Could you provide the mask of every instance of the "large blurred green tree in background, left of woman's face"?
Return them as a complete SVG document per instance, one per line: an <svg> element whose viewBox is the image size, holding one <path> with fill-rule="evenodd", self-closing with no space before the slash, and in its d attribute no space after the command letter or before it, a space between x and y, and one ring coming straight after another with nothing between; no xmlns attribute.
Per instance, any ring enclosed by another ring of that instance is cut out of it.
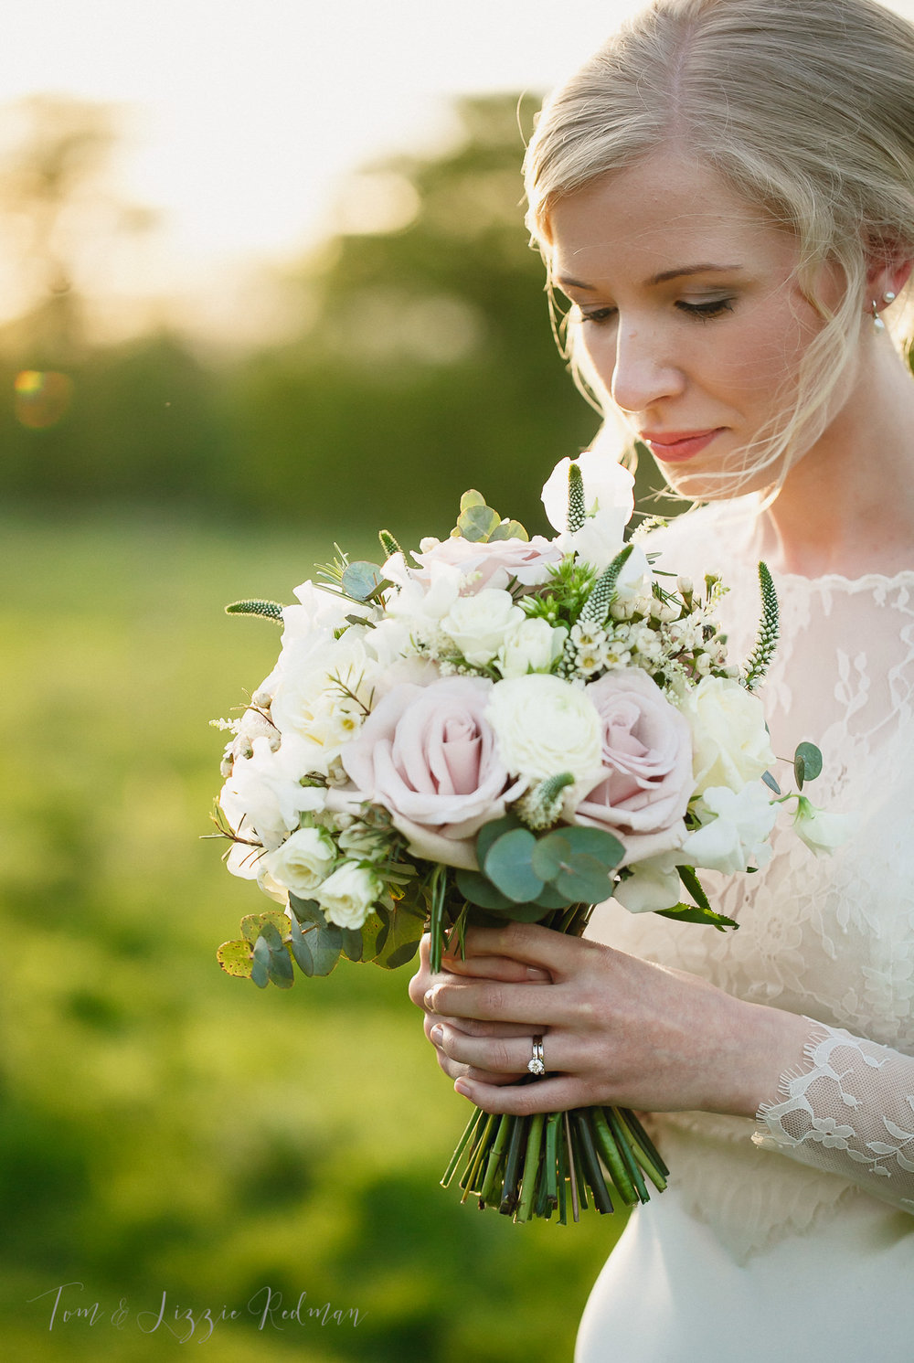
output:
<svg viewBox="0 0 914 1363"><path fill-rule="evenodd" d="M518 102L456 112L456 147L353 176L332 249L302 266L308 330L238 375L245 491L271 514L445 534L478 485L538 523L543 477L598 425L563 372L529 249Z"/></svg>

